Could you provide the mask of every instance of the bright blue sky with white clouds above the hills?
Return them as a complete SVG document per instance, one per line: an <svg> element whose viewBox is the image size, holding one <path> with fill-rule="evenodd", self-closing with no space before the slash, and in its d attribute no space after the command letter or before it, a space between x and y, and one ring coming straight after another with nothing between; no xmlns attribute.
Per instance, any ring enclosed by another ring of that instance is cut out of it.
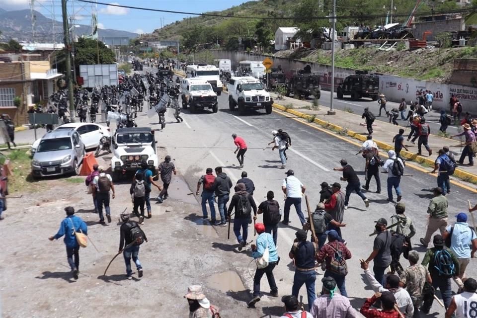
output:
<svg viewBox="0 0 477 318"><path fill-rule="evenodd" d="M162 10L176 10L203 13L223 10L239 5L246 0L100 0L105 3L117 3L137 7ZM30 0L0 0L0 8L19 10L29 8ZM55 17L61 21L61 0L35 0L34 9L48 18ZM68 0L68 13L75 16L76 24L90 24L94 4ZM134 33L151 33L161 24L182 20L188 15L126 9L121 7L97 5L98 27L100 29L117 29Z"/></svg>

